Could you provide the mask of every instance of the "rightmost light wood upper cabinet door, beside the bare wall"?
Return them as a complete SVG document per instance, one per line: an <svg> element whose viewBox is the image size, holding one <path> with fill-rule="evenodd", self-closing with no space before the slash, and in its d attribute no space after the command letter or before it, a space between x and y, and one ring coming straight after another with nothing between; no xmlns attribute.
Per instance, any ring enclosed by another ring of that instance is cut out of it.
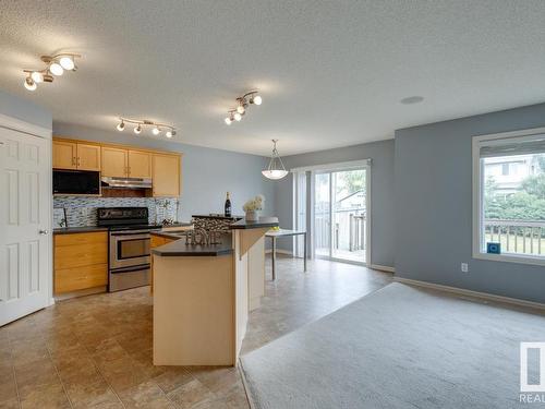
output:
<svg viewBox="0 0 545 409"><path fill-rule="evenodd" d="M153 155L154 196L178 197L180 195L180 156Z"/></svg>

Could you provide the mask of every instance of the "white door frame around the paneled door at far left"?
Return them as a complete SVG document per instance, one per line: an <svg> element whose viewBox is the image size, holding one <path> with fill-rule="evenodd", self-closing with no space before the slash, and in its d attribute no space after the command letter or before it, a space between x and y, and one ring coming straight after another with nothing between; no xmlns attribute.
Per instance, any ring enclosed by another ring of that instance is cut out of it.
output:
<svg viewBox="0 0 545 409"><path fill-rule="evenodd" d="M40 125L36 125L34 123L29 123L26 121L23 121L19 118L10 117L4 113L0 113L0 128L5 128L12 131L16 132L22 132L26 133L31 136L37 136L41 137L44 140L49 141L49 155L47 155L47 167L50 169L49 177L47 178L47 185L46 189L48 192L52 192L52 129L50 128L45 128ZM48 294L48 303L46 306L55 304L55 298L53 298L53 195L50 194L50 212L49 212L49 219L48 221L48 246L49 246L49 273L48 273L48 279L47 279L47 294Z"/></svg>

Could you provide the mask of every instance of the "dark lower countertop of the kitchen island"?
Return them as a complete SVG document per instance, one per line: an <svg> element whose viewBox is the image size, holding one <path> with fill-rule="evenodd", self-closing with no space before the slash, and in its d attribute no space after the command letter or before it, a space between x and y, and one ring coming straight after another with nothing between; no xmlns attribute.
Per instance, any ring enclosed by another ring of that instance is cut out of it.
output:
<svg viewBox="0 0 545 409"><path fill-rule="evenodd" d="M208 245L191 245L185 244L185 238L180 238L172 232L158 232L154 231L153 234L180 239L172 241L170 243L160 245L158 248L152 249L152 253L160 255L162 257L179 257L179 256L218 256L228 255L233 252L231 244L231 234L227 233L221 237L221 244L208 244Z"/></svg>

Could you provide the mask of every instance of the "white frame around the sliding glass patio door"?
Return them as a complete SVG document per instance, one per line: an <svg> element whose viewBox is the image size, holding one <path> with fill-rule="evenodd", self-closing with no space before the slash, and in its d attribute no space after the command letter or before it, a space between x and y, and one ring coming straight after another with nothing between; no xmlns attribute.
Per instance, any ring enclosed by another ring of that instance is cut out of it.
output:
<svg viewBox="0 0 545 409"><path fill-rule="evenodd" d="M335 171L343 171L343 170L355 170L355 169L365 169L365 208L366 208L366 224L365 224L365 262L354 262L350 260L344 260L344 258L338 258L338 257L318 257L318 258L326 258L326 260L331 260L336 262L341 262L341 263L347 263L347 264L356 264L356 265L364 265L370 267L372 265L372 260L371 260L371 231L372 231L372 205L371 205L371 196L372 196L372 163L373 160L371 158L368 159L362 159L362 160L350 160L350 161L342 161L342 163L335 163L335 164L325 164L325 165L315 165L315 166L308 166L308 167L300 167L300 168L293 168L291 169L292 172L299 172L299 171L310 171L311 172L311 192L310 192L310 197L307 197L307 203L310 203L310 208L308 208L308 214L310 214L310 220L311 220L311 226L312 226L312 233L311 233L311 249L310 249L310 255L311 258L315 258L315 227L314 227L314 195L315 195L315 176L317 173L327 173L327 172L335 172ZM331 190L331 181L329 181L329 189ZM329 212L332 210L332 206L329 206ZM295 220L293 220L295 221ZM307 226L308 227L308 226ZM332 222L330 225L330 228L332 229ZM331 243L330 243L331 245Z"/></svg>

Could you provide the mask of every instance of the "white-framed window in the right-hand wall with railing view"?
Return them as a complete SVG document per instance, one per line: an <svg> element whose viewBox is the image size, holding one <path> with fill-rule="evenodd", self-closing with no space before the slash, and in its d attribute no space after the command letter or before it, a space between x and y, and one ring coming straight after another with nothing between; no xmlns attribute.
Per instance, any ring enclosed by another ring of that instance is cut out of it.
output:
<svg viewBox="0 0 545 409"><path fill-rule="evenodd" d="M545 265L545 129L475 136L473 182L473 256Z"/></svg>

